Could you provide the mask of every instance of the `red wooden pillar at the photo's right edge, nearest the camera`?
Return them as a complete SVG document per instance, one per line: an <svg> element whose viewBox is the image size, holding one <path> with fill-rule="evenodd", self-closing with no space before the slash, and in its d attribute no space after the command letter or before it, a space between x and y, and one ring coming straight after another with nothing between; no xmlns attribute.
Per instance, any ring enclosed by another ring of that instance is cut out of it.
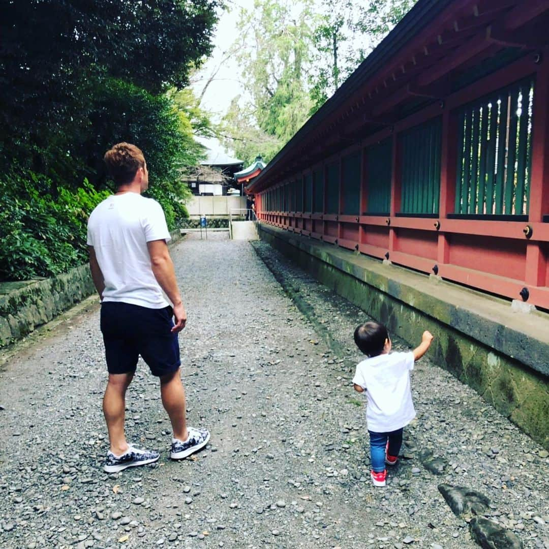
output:
<svg viewBox="0 0 549 549"><path fill-rule="evenodd" d="M528 220L541 222L549 214L549 48L545 48L534 88L532 164ZM535 234L534 234L535 237ZM539 242L526 244L525 282L546 284L547 257Z"/></svg>

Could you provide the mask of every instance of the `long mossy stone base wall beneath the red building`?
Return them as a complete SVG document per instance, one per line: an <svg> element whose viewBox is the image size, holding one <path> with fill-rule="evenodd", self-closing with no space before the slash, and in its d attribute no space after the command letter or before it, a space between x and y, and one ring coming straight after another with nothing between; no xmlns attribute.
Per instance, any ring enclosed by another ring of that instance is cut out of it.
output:
<svg viewBox="0 0 549 549"><path fill-rule="evenodd" d="M410 343L435 335L429 356L549 448L549 316L439 282L282 229L261 239Z"/></svg>

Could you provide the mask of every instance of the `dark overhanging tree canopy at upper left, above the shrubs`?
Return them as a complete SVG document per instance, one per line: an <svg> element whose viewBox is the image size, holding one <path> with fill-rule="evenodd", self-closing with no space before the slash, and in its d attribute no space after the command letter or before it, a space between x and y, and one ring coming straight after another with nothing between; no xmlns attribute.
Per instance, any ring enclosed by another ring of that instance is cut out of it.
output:
<svg viewBox="0 0 549 549"><path fill-rule="evenodd" d="M124 79L159 93L211 52L219 0L8 0L0 20L0 168L47 169L86 124L90 88ZM63 139L61 139L63 141Z"/></svg>

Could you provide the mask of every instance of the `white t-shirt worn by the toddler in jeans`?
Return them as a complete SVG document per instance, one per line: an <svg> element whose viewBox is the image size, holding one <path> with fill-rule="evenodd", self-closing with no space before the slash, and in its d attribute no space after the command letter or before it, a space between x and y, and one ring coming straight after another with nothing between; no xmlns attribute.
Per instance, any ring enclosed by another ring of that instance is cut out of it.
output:
<svg viewBox="0 0 549 549"><path fill-rule="evenodd" d="M410 391L413 352L391 352L358 363L352 382L366 390L368 430L390 433L416 417Z"/></svg>

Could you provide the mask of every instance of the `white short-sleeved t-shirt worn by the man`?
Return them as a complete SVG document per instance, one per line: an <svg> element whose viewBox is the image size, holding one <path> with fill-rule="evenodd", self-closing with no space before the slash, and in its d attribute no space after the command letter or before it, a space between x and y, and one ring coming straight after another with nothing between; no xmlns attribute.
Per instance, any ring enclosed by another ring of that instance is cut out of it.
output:
<svg viewBox="0 0 549 549"><path fill-rule="evenodd" d="M112 195L88 220L88 246L93 246L103 278L103 301L121 301L149 309L168 302L150 264L147 242L171 240L162 206L137 193Z"/></svg>

